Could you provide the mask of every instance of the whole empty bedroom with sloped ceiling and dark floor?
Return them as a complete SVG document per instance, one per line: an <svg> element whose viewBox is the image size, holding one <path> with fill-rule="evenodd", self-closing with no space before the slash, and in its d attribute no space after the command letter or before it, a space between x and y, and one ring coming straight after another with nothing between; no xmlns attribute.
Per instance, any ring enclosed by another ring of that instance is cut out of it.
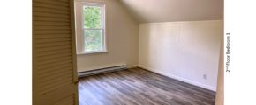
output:
<svg viewBox="0 0 256 105"><path fill-rule="evenodd" d="M222 105L222 36L223 0L33 0L33 103Z"/></svg>

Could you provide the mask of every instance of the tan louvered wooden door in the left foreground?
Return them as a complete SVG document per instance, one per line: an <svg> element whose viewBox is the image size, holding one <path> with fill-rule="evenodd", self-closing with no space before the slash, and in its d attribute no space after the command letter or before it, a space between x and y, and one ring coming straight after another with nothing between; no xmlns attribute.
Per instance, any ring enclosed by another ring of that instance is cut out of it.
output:
<svg viewBox="0 0 256 105"><path fill-rule="evenodd" d="M34 105L78 105L73 4L33 0Z"/></svg>

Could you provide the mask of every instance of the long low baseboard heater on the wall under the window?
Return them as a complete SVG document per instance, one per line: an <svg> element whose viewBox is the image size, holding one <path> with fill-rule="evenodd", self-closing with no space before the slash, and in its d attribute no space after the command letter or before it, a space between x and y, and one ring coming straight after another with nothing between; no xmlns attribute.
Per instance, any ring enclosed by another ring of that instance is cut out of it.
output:
<svg viewBox="0 0 256 105"><path fill-rule="evenodd" d="M85 77L93 74L98 74L98 73L109 73L109 72L114 72L114 71L119 71L119 70L125 70L127 69L126 65L120 65L120 66L109 66L109 67L103 67L99 69L94 69L94 70L87 70L84 72L79 72L78 76L80 77Z"/></svg>

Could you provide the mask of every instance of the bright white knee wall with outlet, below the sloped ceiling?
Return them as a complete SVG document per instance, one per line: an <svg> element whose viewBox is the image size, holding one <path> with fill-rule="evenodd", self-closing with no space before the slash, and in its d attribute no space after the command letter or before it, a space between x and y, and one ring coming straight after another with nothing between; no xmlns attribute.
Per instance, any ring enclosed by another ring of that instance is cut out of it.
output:
<svg viewBox="0 0 256 105"><path fill-rule="evenodd" d="M222 20L140 24L139 66L215 90L222 29Z"/></svg>

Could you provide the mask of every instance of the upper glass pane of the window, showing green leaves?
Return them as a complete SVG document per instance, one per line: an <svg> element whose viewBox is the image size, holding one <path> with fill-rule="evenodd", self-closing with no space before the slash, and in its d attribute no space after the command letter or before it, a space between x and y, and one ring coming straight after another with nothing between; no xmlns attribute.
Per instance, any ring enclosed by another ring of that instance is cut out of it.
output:
<svg viewBox="0 0 256 105"><path fill-rule="evenodd" d="M102 28L102 8L84 6L84 28Z"/></svg>

